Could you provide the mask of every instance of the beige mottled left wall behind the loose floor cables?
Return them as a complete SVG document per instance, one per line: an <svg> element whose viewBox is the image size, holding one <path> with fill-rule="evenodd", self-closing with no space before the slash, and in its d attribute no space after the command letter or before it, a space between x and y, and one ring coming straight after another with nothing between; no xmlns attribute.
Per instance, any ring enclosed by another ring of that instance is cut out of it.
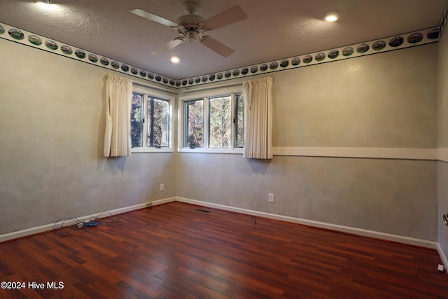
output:
<svg viewBox="0 0 448 299"><path fill-rule="evenodd" d="M3 39L0 57L0 234L176 195L174 153L102 157L104 69Z"/></svg>

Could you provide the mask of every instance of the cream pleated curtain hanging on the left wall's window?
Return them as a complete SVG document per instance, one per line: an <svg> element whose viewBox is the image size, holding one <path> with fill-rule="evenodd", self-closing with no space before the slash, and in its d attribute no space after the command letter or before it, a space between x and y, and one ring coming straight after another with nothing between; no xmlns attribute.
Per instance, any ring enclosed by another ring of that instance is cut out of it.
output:
<svg viewBox="0 0 448 299"><path fill-rule="evenodd" d="M104 156L131 155L132 81L108 75L106 79L106 132Z"/></svg>

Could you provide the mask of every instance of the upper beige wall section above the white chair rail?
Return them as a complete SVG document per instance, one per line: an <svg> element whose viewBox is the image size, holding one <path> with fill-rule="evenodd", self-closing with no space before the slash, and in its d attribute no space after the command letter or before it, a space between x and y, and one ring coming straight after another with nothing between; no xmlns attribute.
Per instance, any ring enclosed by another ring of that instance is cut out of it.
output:
<svg viewBox="0 0 448 299"><path fill-rule="evenodd" d="M435 148L437 45L274 75L273 146Z"/></svg>

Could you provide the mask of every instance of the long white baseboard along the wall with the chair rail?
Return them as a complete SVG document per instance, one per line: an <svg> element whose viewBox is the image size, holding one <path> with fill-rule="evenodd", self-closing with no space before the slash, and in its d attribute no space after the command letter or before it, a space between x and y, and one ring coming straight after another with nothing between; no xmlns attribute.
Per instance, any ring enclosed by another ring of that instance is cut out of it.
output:
<svg viewBox="0 0 448 299"><path fill-rule="evenodd" d="M359 235L359 236L363 236L363 237L372 237L375 239L384 239L387 241L421 246L421 247L426 247L426 248L430 248L430 249L437 249L439 247L439 244L437 242L428 241L426 239L416 239L416 238L412 238L412 237L404 237L404 236L400 236L400 235L387 234L384 232L375 232L373 230L363 230L361 228L351 228L349 226L336 225L336 224L324 223L324 222L319 222L319 221L312 221L312 220L295 218L295 217L290 217L290 216L283 216L283 215L278 215L278 214L271 214L271 213L266 213L266 212L262 212L262 211L241 209L241 208L237 208L237 207L225 206L223 204L202 202L200 200L190 200L188 198L183 198L183 197L176 197L176 200L179 202L185 202L188 204L197 204L202 207L222 209L225 211L235 211L237 213L248 214L251 216L259 216L259 217L265 217L265 218L270 218L270 219L275 219L275 220L288 221L288 222L292 222L292 223L299 223L299 224L303 224L303 225L314 226L316 228L326 228L329 230L346 232L346 233L349 233L352 235ZM447 267L447 269L448 269L448 267Z"/></svg>

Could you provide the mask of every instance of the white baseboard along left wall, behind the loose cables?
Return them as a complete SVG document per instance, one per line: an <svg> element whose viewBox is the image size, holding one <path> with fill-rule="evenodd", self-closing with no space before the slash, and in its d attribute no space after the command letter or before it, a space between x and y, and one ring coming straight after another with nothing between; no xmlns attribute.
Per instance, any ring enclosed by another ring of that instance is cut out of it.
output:
<svg viewBox="0 0 448 299"><path fill-rule="evenodd" d="M109 213L112 215L116 215L116 214L123 214L128 211L134 211L137 209L144 209L145 207L148 207L148 204L151 204L151 206L156 206L158 204L166 204L168 202L175 202L175 201L176 201L176 197L165 198L163 200L154 200L153 202L145 202L143 204L136 204L136 205L130 206L130 207L123 207L120 209L114 209L112 211L106 211L106 212L104 212L104 216L109 216ZM90 220L98 215L99 215L99 213L87 215L87 216L80 216L80 217L76 217L76 218L78 218L80 221L85 221L85 220ZM8 232L6 234L0 235L0 242L8 241L10 239L18 239L20 237L26 237L29 235L35 235L35 234L38 234L41 232L48 232L53 229L54 225L55 225L55 223L50 223L50 224L46 224L46 225L37 226L35 228L27 228L26 230L19 230L17 232Z"/></svg>

